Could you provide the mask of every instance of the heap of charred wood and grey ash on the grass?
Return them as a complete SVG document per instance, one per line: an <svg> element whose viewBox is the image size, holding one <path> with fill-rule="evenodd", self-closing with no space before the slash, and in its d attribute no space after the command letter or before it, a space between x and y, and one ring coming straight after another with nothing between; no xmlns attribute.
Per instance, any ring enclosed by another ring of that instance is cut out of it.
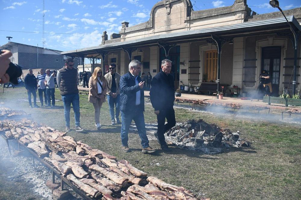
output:
<svg viewBox="0 0 301 200"><path fill-rule="evenodd" d="M166 140L180 147L202 150L205 153L219 153L222 148L249 146L239 137L239 131L232 133L216 124L202 119L189 120L168 130Z"/></svg>

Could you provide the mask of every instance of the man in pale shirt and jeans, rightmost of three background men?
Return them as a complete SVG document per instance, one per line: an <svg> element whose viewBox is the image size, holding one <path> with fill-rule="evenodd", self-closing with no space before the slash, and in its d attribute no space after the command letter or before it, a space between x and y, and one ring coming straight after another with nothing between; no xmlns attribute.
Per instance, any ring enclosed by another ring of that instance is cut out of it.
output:
<svg viewBox="0 0 301 200"><path fill-rule="evenodd" d="M50 69L46 70L45 76L45 86L46 86L46 94L47 94L47 107L50 107L50 97L52 99L51 107L55 106L55 99L54 99L54 77L56 76L56 71L53 71L50 74Z"/></svg>

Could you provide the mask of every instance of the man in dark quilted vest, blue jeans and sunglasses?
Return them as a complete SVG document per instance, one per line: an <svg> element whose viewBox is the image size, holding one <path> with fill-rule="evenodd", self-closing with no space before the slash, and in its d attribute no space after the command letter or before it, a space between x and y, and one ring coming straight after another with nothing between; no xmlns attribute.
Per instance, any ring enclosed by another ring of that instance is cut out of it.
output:
<svg viewBox="0 0 301 200"><path fill-rule="evenodd" d="M79 91L77 89L77 69L73 68L72 58L67 58L65 66L57 72L57 85L60 88L62 101L64 104L64 117L66 121L66 131L70 131L70 108L71 103L75 118L75 131L83 131L79 121Z"/></svg>

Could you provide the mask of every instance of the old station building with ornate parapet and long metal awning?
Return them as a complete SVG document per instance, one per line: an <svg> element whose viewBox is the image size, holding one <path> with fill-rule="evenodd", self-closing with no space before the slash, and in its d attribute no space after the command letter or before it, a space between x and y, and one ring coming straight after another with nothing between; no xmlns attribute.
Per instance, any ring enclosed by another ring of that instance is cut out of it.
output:
<svg viewBox="0 0 301 200"><path fill-rule="evenodd" d="M271 75L273 93L278 95L288 86L293 72L290 26L297 36L301 31L301 8L285 10L284 14L288 22L281 12L258 15L246 0L198 11L193 10L190 0L164 0L152 7L147 22L133 26L123 22L120 32L111 34L110 40L104 31L99 46L62 54L104 58L104 71L115 63L121 75L128 72L130 60L137 59L143 63L142 72L154 76L160 61L168 58L175 88L182 83L200 86L202 82L220 81L229 87L237 85L240 93L255 90L265 69ZM297 47L296 88L301 80L300 40Z"/></svg>

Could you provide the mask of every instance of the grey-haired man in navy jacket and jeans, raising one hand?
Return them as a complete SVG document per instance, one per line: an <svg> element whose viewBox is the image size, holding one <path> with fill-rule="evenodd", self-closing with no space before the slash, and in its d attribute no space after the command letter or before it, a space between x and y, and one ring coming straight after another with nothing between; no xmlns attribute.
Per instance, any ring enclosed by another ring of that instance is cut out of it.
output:
<svg viewBox="0 0 301 200"><path fill-rule="evenodd" d="M155 149L149 146L146 136L144 122L144 82L141 81L139 73L141 72L141 62L132 60L129 64L129 73L121 76L119 82L120 88L120 110L121 110L121 143L122 150L129 152L128 132L132 120L135 121L138 134L141 139L143 153L153 153Z"/></svg>

